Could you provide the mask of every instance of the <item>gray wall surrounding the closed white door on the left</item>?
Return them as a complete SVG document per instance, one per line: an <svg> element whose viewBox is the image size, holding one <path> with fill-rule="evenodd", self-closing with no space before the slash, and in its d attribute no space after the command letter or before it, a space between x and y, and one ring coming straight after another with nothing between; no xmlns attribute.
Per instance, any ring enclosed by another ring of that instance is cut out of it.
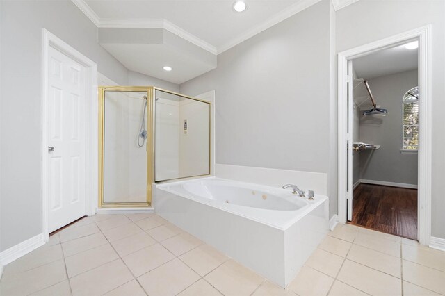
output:
<svg viewBox="0 0 445 296"><path fill-rule="evenodd" d="M127 69L97 44L97 28L71 1L1 1L0 251L42 233L41 47L47 28L127 84Z"/></svg>

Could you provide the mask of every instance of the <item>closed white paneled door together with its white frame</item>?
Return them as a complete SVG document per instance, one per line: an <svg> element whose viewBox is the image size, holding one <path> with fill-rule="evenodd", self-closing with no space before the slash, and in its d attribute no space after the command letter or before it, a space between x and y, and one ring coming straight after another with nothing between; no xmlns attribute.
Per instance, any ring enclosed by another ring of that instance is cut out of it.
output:
<svg viewBox="0 0 445 296"><path fill-rule="evenodd" d="M96 64L42 29L42 229L95 213Z"/></svg>

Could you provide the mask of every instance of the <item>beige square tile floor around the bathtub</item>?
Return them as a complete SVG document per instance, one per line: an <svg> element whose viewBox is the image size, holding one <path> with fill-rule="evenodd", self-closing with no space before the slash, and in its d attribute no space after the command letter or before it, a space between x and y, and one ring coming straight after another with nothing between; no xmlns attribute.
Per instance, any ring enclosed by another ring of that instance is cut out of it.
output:
<svg viewBox="0 0 445 296"><path fill-rule="evenodd" d="M7 265L0 295L445 295L445 252L339 225L284 290L157 215L95 215Z"/></svg>

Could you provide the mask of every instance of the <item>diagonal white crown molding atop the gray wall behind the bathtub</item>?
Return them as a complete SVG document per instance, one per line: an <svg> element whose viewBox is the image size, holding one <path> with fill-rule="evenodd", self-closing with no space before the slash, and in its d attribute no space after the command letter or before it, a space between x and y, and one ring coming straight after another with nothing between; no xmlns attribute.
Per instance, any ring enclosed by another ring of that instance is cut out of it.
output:
<svg viewBox="0 0 445 296"><path fill-rule="evenodd" d="M275 24L284 21L284 19L287 19L292 15L300 13L300 11L305 10L309 6L313 6L315 3L318 3L319 1L321 0L298 1L289 8L286 8L282 10L280 13L273 15L273 17L266 19L265 22L259 24L258 26L254 26L254 28L251 28L249 31L241 35L238 35L233 40L223 44L223 46L221 47L218 47L218 54L221 54L224 51L227 51L227 49L231 49L232 47L240 44L241 42L248 40L249 38L252 38L254 35L257 35L258 33L267 30L271 26L274 26Z"/></svg>

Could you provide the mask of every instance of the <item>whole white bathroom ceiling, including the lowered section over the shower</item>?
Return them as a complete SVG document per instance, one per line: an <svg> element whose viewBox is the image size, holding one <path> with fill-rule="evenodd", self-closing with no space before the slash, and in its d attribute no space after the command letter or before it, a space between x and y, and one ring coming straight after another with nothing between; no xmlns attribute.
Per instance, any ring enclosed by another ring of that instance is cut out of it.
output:
<svg viewBox="0 0 445 296"><path fill-rule="evenodd" d="M247 9L236 13L235 0L72 0L101 29L163 30L161 42L147 41L143 34L140 42L125 42L113 32L112 42L99 44L131 71L177 84L214 69L216 55L321 0L244 1ZM331 1L339 10L358 0ZM163 65L173 70L167 73Z"/></svg>

